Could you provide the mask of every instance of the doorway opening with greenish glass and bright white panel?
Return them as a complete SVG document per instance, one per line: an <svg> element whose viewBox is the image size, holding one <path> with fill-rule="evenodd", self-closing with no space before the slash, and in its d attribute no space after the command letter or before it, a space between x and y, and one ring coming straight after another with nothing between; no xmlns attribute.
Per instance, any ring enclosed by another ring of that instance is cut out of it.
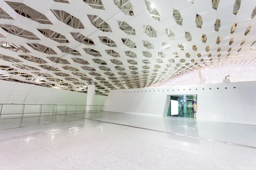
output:
<svg viewBox="0 0 256 170"><path fill-rule="evenodd" d="M196 118L197 95L172 95L167 116Z"/></svg>

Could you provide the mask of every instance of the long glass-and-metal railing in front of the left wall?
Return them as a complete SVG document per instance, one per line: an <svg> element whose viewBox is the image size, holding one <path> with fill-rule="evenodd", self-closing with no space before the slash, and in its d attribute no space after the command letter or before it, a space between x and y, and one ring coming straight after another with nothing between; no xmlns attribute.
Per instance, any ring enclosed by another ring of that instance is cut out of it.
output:
<svg viewBox="0 0 256 170"><path fill-rule="evenodd" d="M105 105L0 104L0 121L24 127L104 116Z"/></svg>

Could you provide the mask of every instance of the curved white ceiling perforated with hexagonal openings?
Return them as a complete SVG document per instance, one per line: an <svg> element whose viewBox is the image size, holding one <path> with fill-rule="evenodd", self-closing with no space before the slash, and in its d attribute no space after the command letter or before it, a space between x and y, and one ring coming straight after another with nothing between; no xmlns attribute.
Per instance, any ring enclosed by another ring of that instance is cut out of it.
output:
<svg viewBox="0 0 256 170"><path fill-rule="evenodd" d="M254 0L4 0L0 7L0 79L84 93L94 83L107 95L179 84L198 68L255 66Z"/></svg>

